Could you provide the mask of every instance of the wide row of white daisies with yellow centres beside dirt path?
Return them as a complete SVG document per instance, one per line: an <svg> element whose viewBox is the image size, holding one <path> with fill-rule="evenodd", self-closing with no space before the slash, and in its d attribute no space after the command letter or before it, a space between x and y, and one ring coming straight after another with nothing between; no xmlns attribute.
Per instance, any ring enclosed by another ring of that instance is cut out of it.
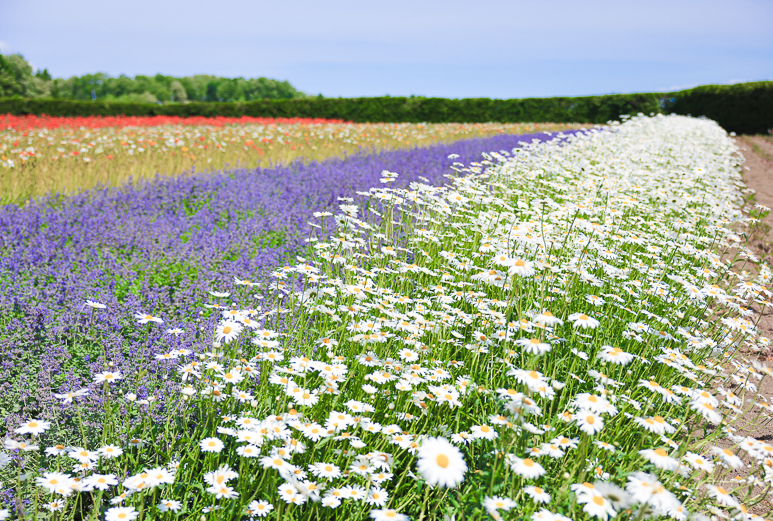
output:
<svg viewBox="0 0 773 521"><path fill-rule="evenodd" d="M771 271L740 161L714 122L658 116L444 187L384 172L316 216L276 307L223 293L200 349L156 353L164 421L105 367L98 432L19 425L0 519L763 519L771 370L737 355L769 347Z"/></svg>

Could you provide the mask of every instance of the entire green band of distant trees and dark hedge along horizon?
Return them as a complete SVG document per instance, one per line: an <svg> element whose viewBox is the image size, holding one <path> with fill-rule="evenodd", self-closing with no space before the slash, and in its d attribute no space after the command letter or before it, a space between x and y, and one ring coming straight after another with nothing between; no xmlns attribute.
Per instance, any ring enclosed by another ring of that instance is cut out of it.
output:
<svg viewBox="0 0 773 521"><path fill-rule="evenodd" d="M159 74L132 79L94 74L53 80L47 71L33 74L19 55L0 56L0 60L0 114L302 117L385 123L606 123L623 114L643 112L705 116L727 131L745 134L766 133L773 127L771 81L574 98L323 98L306 96L287 82L266 78L174 78Z"/></svg>

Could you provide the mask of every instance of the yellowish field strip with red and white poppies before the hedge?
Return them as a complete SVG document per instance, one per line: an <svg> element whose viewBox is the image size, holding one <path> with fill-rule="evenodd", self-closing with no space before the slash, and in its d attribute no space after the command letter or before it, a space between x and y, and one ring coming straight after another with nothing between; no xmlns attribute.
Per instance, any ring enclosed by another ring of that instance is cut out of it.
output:
<svg viewBox="0 0 773 521"><path fill-rule="evenodd" d="M582 125L362 124L298 118L0 116L0 193L120 186L183 171L254 168ZM586 125L587 126L587 125Z"/></svg>

